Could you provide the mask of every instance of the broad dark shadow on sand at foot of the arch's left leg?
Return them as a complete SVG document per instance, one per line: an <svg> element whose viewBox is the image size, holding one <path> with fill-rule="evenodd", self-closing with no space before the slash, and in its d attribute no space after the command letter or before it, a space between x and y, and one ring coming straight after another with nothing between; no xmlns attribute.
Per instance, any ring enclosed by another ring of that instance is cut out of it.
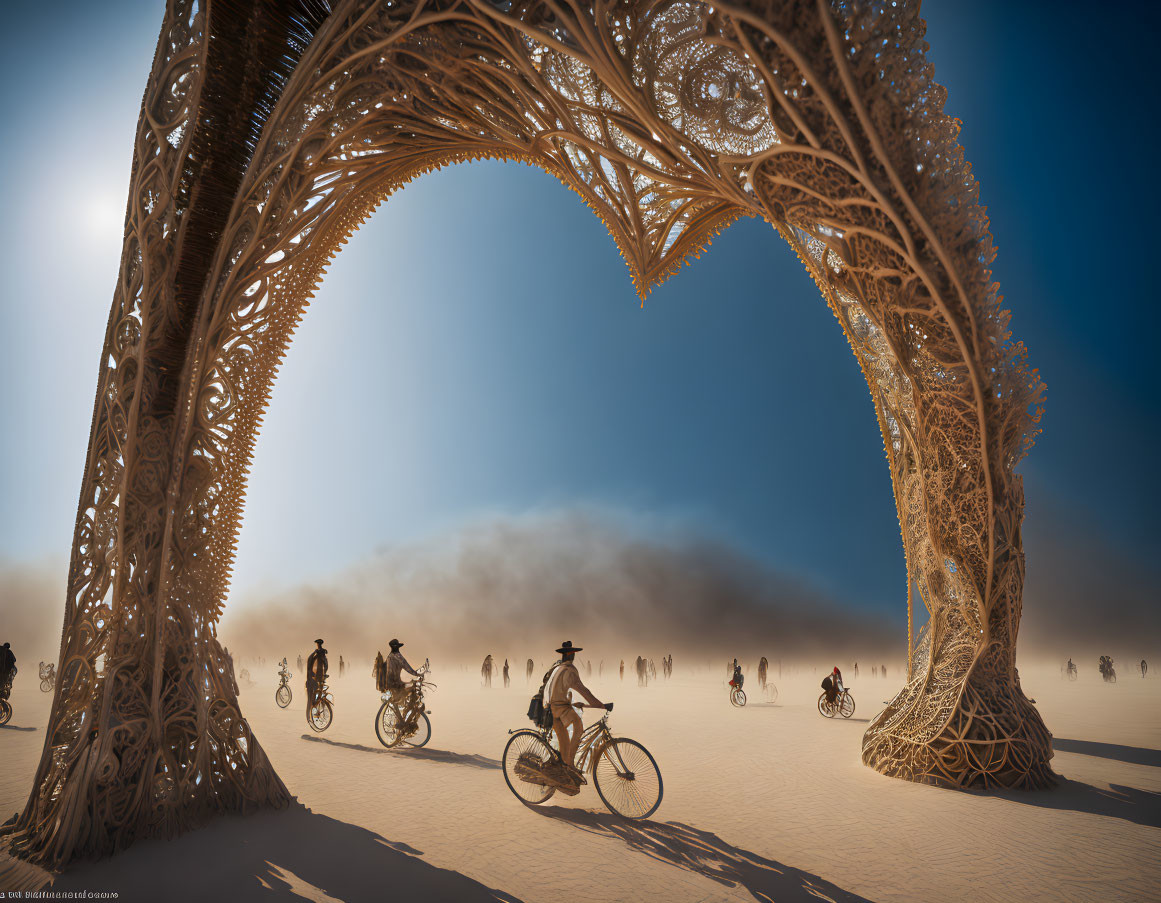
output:
<svg viewBox="0 0 1161 903"><path fill-rule="evenodd" d="M53 891L111 891L122 901L414 900L519 903L478 881L428 865L405 844L316 815L300 804L225 816L179 840L146 840L80 865Z"/></svg>

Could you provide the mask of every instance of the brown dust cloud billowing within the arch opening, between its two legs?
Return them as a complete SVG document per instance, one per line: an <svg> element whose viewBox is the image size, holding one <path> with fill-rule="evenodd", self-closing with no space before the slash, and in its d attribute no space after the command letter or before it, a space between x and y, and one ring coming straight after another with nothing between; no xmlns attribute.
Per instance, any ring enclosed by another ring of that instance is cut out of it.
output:
<svg viewBox="0 0 1161 903"><path fill-rule="evenodd" d="M425 655L513 667L553 657L562 640L585 657L686 662L902 662L906 627L844 609L823 593L704 537L642 535L613 516L558 512L476 522L383 549L331 579L226 608L221 636L238 653L370 658L398 636Z"/></svg>

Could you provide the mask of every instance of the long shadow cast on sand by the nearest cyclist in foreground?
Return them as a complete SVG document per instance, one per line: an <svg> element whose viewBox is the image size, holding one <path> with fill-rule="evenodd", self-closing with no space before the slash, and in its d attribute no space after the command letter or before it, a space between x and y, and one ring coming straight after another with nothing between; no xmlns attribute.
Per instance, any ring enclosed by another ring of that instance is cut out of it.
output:
<svg viewBox="0 0 1161 903"><path fill-rule="evenodd" d="M871 903L809 872L730 846L717 835L699 831L680 822L627 822L605 812L563 809L558 806L529 807L546 818L557 818L582 831L616 837L646 855L694 872L727 887L741 886L756 900L778 903Z"/></svg>

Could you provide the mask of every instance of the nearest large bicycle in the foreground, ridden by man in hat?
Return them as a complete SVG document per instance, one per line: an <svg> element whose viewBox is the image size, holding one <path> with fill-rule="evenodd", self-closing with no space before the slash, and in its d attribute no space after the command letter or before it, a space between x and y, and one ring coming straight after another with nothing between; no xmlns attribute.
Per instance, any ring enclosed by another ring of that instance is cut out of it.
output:
<svg viewBox="0 0 1161 903"><path fill-rule="evenodd" d="M574 703L577 708L600 708ZM608 728L613 703L605 716L585 728L577 745L577 771L592 775L593 786L605 807L621 818L648 818L661 806L665 787L657 761L636 741L614 737ZM557 787L545 774L547 766L563 766L561 753L551 746L551 728L510 730L504 747L504 780L525 806L540 806L551 799Z"/></svg>

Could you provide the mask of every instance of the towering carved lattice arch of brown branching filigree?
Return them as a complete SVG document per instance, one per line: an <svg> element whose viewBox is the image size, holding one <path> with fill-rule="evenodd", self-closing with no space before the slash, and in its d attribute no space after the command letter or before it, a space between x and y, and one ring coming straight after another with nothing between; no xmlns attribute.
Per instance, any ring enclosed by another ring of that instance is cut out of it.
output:
<svg viewBox="0 0 1161 903"><path fill-rule="evenodd" d="M930 612L864 760L1050 783L1015 669L1014 468L1043 387L1009 337L923 31L902 0L170 0L14 848L60 866L287 801L215 637L255 432L347 237L417 174L477 158L575 189L642 294L737 217L773 224L863 367L908 607Z"/></svg>

